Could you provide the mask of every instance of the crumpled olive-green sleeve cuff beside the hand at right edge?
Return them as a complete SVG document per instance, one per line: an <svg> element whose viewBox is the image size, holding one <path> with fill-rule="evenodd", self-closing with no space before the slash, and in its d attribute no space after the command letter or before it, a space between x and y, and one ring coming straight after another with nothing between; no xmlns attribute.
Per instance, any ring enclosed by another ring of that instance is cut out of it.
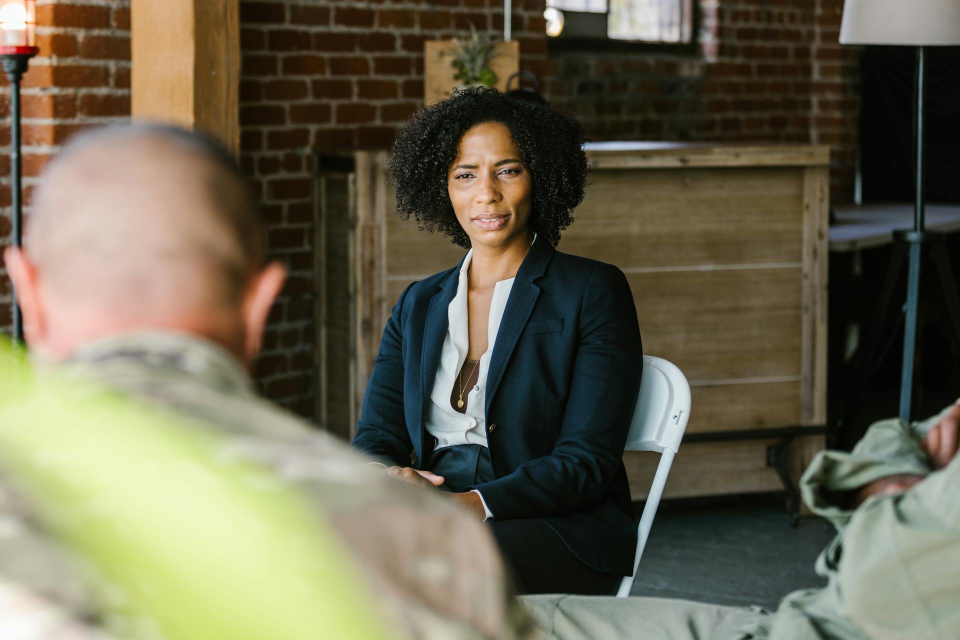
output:
<svg viewBox="0 0 960 640"><path fill-rule="evenodd" d="M887 476L929 474L920 441L951 408L921 422L908 424L900 418L876 422L852 452L820 452L801 479L804 502L839 528L850 520L852 510L845 504L850 491Z"/></svg>

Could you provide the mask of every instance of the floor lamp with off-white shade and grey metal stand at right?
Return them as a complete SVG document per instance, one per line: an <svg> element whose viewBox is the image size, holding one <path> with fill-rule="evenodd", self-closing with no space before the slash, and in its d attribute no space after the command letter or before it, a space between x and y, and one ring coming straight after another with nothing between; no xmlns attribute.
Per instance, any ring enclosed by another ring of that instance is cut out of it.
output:
<svg viewBox="0 0 960 640"><path fill-rule="evenodd" d="M896 242L880 313L883 324L891 310L892 292L899 279L903 254L908 258L907 294L904 305L903 365L900 376L900 418L910 419L913 395L914 355L917 342L917 308L920 300L921 258L928 252L934 260L953 332L960 344L960 301L949 263L944 236L927 231L924 225L924 62L926 48L960 45L960 0L846 0L840 27L841 44L884 44L917 48L917 72L914 81L914 148L916 150L916 193L912 229L894 232ZM897 305L899 306L899 305ZM867 362L876 360L867 354ZM873 367L865 367L869 375ZM845 415L846 422L848 416Z"/></svg>

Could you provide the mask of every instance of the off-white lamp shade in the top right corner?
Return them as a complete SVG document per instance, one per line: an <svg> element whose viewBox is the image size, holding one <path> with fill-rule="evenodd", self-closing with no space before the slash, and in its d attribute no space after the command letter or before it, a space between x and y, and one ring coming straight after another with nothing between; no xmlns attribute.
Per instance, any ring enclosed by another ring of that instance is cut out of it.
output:
<svg viewBox="0 0 960 640"><path fill-rule="evenodd" d="M847 0L841 44L960 44L960 0Z"/></svg>

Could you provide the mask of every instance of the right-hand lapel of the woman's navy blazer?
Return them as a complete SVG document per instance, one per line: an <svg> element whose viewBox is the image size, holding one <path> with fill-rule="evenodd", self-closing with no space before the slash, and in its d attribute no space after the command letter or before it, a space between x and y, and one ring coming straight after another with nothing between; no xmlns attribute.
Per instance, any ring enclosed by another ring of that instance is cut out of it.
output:
<svg viewBox="0 0 960 640"><path fill-rule="evenodd" d="M546 272L546 266L554 253L556 249L541 238L534 242L523 259L523 264L516 272L514 287L510 290L507 308L503 310L500 328L496 332L496 343L493 344L490 369L487 371L485 412L490 411L490 403L497 387L500 386L500 380L503 378L507 363L510 362L510 356L514 353L516 341L519 340L523 327L526 326L530 314L533 313L534 305L537 304L537 298L540 297L540 287L534 284L534 280Z"/></svg>

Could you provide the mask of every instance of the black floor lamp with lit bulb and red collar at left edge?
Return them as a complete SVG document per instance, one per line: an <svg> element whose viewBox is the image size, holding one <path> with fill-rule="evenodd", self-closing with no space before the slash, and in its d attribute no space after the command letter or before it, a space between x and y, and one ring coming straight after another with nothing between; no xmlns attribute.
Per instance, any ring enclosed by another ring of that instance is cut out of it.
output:
<svg viewBox="0 0 960 640"><path fill-rule="evenodd" d="M0 65L10 80L10 174L13 246L21 243L23 221L20 159L20 78L36 56L35 0L0 0ZM23 320L13 292L13 339L23 342Z"/></svg>

